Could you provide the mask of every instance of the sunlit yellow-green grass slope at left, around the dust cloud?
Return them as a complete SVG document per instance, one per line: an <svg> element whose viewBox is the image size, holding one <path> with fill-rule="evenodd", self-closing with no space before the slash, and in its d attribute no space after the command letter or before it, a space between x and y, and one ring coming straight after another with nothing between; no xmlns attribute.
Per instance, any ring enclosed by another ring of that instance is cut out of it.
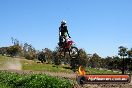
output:
<svg viewBox="0 0 132 88"><path fill-rule="evenodd" d="M50 72L67 72L71 73L72 71L68 68L67 65L59 65L56 66L54 64L46 64L46 63L37 63L33 60L26 60L24 58L18 60L22 70L35 70L35 71L50 71ZM11 64L18 64L18 61L16 59L11 57L5 57L0 55L0 65L1 67L6 64L6 62L11 62ZM18 66L18 65L17 65Z"/></svg>

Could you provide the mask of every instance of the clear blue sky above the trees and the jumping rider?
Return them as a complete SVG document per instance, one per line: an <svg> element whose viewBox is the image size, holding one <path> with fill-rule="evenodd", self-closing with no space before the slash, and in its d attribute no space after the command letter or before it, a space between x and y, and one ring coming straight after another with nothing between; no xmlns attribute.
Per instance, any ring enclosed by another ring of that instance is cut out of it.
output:
<svg viewBox="0 0 132 88"><path fill-rule="evenodd" d="M132 0L0 0L0 47L11 37L54 50L67 21L72 40L88 54L118 55L132 48Z"/></svg>

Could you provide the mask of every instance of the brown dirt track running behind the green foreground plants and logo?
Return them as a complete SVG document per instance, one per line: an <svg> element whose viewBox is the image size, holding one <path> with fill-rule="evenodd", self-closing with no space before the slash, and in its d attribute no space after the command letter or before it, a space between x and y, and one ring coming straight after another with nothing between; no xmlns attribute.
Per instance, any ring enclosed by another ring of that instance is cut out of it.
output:
<svg viewBox="0 0 132 88"><path fill-rule="evenodd" d="M55 72L45 72L45 71L22 71L22 70L5 70L7 72L14 72L18 74L47 74L50 76L61 77L70 80L76 80L75 73L55 73ZM132 80L131 83L128 84L85 84L83 86L79 86L75 81L74 88L132 88Z"/></svg>

